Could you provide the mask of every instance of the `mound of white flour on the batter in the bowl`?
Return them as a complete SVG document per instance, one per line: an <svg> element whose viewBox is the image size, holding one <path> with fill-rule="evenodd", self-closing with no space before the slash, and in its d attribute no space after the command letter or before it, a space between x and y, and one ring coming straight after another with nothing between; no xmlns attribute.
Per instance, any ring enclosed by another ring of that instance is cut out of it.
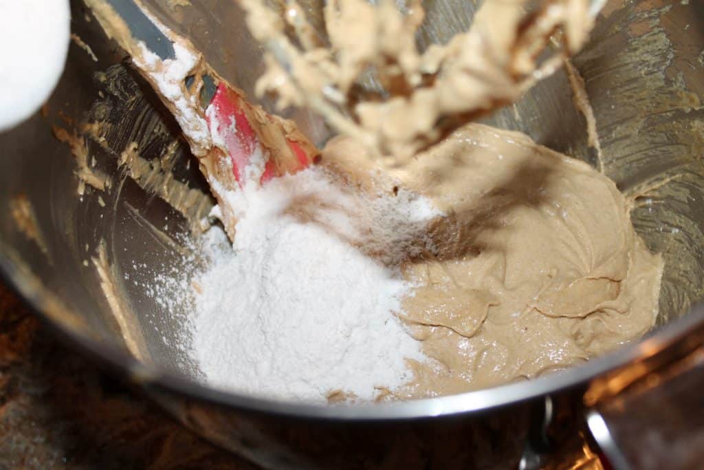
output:
<svg viewBox="0 0 704 470"><path fill-rule="evenodd" d="M318 168L228 199L234 245L210 230L210 266L195 280L192 354L208 383L321 402L338 391L373 400L410 381L406 359L425 357L394 314L410 285L363 250L383 235L382 257L398 259L394 246L408 250L432 206L413 194L360 199Z"/></svg>

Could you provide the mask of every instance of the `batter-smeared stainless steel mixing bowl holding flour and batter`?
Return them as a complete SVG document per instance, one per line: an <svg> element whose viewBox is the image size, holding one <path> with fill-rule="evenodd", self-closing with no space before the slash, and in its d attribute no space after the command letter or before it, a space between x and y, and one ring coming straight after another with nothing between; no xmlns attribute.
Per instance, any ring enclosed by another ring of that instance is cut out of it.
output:
<svg viewBox="0 0 704 470"><path fill-rule="evenodd" d="M261 69L260 49L246 31L228 27L241 16L234 2L174 3L144 1L167 25L191 37L222 75L251 92ZM464 30L476 8L457 0L427 0L425 6L420 44L446 41ZM318 18L320 2L306 8ZM560 435L575 432L584 414L612 463L627 468L639 462L643 450L624 445L623 413L614 410L629 411L628 392L643 380L641 392L666 390L667 381L652 378L662 377L659 368L691 357L704 329L704 310L691 307L704 287L704 4L610 1L593 39L574 58L596 113L606 171L625 192L642 194L634 225L648 247L665 257L658 328L606 357L534 381L361 407L260 400L199 383L177 344L189 306L169 314L149 285L160 273L188 267L183 259L189 248L179 240L189 233L189 223L158 194L175 197L168 190L173 180L180 181L194 190L191 197L204 210L210 204L207 187L196 165L189 165L192 156L172 118L78 0L73 30L98 61L73 44L44 116L0 135L1 270L70 342L126 374L187 426L271 468L498 468L519 462L529 468L541 464ZM291 116L306 120L301 113ZM96 120L107 123L103 139L79 132L73 154L52 135L51 125L73 132ZM489 122L595 161L562 72ZM318 140L325 135L310 132ZM80 142L87 166L94 163L111 179L106 190L87 187L82 197L75 156ZM130 142L139 142L145 168L153 172L149 178L136 182L118 168ZM166 161L169 148L174 151ZM167 163L175 175L171 183L163 178ZM694 364L687 370L699 371ZM677 409L675 395L662 396ZM610 406L613 400L620 400L620 408ZM639 421L642 428L631 426L631 440L664 426L650 418ZM653 444L648 450L655 455L659 448Z"/></svg>

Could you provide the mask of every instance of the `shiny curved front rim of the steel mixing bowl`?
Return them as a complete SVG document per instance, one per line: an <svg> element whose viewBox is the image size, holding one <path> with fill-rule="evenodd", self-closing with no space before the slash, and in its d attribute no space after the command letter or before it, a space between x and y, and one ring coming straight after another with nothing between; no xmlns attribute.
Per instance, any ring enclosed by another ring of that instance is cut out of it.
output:
<svg viewBox="0 0 704 470"><path fill-rule="evenodd" d="M23 271L18 269L11 257L7 256L0 247L0 278L23 299L34 314L68 340L71 345L76 345L79 350L89 354L89 357L97 359L99 364L126 375L130 381L141 385L146 390L166 392L169 395L237 409L241 412L286 416L293 419L387 421L486 412L489 409L534 400L584 385L603 373L652 357L684 338L691 330L704 327L704 304L698 304L689 314L651 331L640 340L567 371L548 374L530 381L498 385L459 395L405 402L356 405L308 404L217 390L170 371L160 370L156 365L142 363L131 354L127 354L126 350L82 334L67 322L59 321L47 314L42 307L42 293L30 287L37 283L23 276L25 276ZM42 289L48 292L46 287L42 286Z"/></svg>

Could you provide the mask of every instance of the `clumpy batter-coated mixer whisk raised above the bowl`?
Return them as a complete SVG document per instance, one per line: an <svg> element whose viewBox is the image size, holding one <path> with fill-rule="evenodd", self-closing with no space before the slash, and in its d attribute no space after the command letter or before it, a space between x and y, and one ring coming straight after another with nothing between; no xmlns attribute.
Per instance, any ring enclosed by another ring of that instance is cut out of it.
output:
<svg viewBox="0 0 704 470"><path fill-rule="evenodd" d="M325 2L329 45L314 34L295 0L286 2L285 21L267 2L240 3L253 37L268 51L258 92L275 94L281 109L313 109L341 134L396 164L453 128L520 99L582 48L594 20L589 0L486 0L469 30L420 51L416 32L425 11L417 0ZM546 55L551 57L539 60ZM362 96L360 83L370 85Z"/></svg>

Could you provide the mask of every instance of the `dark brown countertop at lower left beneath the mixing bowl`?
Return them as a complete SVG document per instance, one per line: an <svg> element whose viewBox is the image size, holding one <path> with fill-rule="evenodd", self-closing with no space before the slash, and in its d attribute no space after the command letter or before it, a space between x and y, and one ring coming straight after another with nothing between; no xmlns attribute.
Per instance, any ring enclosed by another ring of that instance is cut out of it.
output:
<svg viewBox="0 0 704 470"><path fill-rule="evenodd" d="M0 469L49 468L255 469L57 342L0 284Z"/></svg>

